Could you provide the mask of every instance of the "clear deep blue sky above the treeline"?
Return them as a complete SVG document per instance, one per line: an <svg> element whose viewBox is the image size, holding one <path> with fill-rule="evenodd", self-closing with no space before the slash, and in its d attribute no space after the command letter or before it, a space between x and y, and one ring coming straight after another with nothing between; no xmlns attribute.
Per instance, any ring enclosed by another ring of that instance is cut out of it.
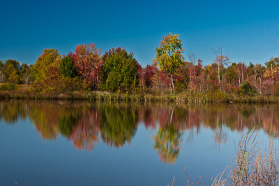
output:
<svg viewBox="0 0 279 186"><path fill-rule="evenodd" d="M164 34L179 33L184 55L212 63L224 48L233 62L279 56L279 1L15 1L0 0L0 59L35 63L45 48L61 54L95 43L123 47L143 66Z"/></svg>

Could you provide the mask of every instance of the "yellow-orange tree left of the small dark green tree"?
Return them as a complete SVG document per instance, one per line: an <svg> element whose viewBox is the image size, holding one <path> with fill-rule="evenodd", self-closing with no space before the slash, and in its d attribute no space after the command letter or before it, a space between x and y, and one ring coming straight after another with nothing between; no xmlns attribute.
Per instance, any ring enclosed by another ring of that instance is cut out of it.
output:
<svg viewBox="0 0 279 186"><path fill-rule="evenodd" d="M57 49L44 49L35 65L31 68L31 75L35 82L43 82L50 66L59 67L61 55Z"/></svg>

